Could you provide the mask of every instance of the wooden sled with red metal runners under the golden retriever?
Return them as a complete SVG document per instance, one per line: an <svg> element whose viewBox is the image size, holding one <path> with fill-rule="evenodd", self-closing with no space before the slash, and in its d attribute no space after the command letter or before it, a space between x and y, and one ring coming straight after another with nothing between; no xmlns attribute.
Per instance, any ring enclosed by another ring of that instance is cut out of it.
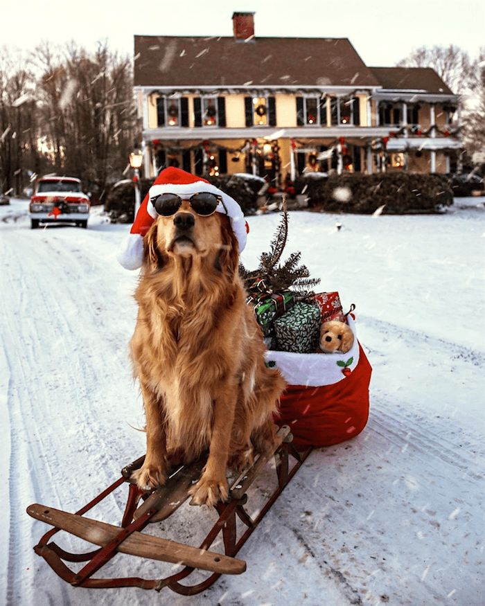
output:
<svg viewBox="0 0 485 606"><path fill-rule="evenodd" d="M279 497L292 476L311 452L297 452L292 445L290 428L283 426L277 435L276 448L267 456L259 456L252 467L231 483L227 503L218 502L215 510L218 520L209 534L198 547L145 534L143 528L150 523L161 522L170 517L189 498L188 489L197 481L204 467L205 460L196 461L181 467L170 476L166 485L152 492L140 490L130 482L132 472L143 465L144 456L136 459L121 471L121 478L103 490L92 501L76 513L67 513L44 505L30 505L27 513L31 517L46 522L54 528L48 531L34 547L35 553L41 555L51 568L62 579L76 587L141 587L160 591L169 587L177 594L193 596L204 591L218 580L221 574L240 574L246 570L246 562L234 556L252 535L256 526L265 517L274 501ZM247 489L263 470L266 463L274 456L278 486L270 494L263 508L254 517L245 510ZM84 517L85 513L103 501L116 488L127 483L128 494L121 526L114 526ZM141 502L141 504L140 504ZM236 519L243 522L243 533L238 537ZM51 542L51 537L59 531L66 531L88 542L99 546L99 549L88 553L70 553ZM209 548L222 533L224 553L209 551ZM116 553L129 553L142 558L161 560L182 564L184 568L170 576L160 579L140 577L125 578L92 578L101 567L112 560ZM86 562L79 570L71 570L64 562ZM193 573L195 569L208 571L210 575L195 585L182 585L180 582Z"/></svg>

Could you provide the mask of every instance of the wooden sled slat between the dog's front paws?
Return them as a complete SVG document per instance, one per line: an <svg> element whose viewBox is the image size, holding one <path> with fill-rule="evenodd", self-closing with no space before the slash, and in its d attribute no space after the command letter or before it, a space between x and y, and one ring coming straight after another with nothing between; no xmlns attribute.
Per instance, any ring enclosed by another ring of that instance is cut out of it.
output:
<svg viewBox="0 0 485 606"><path fill-rule="evenodd" d="M182 467L175 475L168 479L167 483L161 488L154 490L150 497L134 512L134 519L138 519L149 509L157 510L157 513L150 517L152 522L161 522L173 514L188 499L188 489L194 481L200 478L202 469L206 460L195 461L191 465Z"/></svg>

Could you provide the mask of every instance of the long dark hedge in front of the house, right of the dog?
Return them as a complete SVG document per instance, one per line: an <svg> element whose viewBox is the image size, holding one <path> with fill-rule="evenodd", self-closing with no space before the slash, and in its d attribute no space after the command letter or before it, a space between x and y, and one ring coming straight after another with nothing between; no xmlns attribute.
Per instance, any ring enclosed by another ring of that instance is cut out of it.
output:
<svg viewBox="0 0 485 606"><path fill-rule="evenodd" d="M308 206L332 213L372 214L381 206L387 215L438 213L453 204L452 189L441 175L302 175L295 185L297 193L308 196Z"/></svg>

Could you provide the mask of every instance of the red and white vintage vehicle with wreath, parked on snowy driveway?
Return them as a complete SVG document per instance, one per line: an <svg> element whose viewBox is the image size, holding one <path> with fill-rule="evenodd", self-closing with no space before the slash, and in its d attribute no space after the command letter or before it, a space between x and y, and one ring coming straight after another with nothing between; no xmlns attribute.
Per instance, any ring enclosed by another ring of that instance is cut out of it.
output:
<svg viewBox="0 0 485 606"><path fill-rule="evenodd" d="M30 198L30 227L39 223L74 223L87 227L89 197L76 177L42 177Z"/></svg>

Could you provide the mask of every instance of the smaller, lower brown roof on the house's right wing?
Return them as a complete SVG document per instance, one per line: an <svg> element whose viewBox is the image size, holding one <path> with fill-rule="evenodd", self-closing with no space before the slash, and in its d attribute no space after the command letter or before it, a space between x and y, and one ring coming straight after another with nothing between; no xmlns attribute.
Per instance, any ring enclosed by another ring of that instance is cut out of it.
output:
<svg viewBox="0 0 485 606"><path fill-rule="evenodd" d="M369 67L369 69L385 89L453 94L432 67Z"/></svg>

